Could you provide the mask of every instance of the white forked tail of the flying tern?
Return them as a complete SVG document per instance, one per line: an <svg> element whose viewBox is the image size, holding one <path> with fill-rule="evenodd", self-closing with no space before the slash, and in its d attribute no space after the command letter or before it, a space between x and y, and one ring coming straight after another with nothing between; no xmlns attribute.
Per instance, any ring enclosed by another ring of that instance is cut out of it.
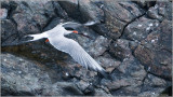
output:
<svg viewBox="0 0 173 97"><path fill-rule="evenodd" d="M37 34L27 34L25 36L25 38L32 38L30 40L27 40L27 41L37 41L37 40L40 40L42 38L48 38L48 34L45 32L43 33L37 33Z"/></svg>

